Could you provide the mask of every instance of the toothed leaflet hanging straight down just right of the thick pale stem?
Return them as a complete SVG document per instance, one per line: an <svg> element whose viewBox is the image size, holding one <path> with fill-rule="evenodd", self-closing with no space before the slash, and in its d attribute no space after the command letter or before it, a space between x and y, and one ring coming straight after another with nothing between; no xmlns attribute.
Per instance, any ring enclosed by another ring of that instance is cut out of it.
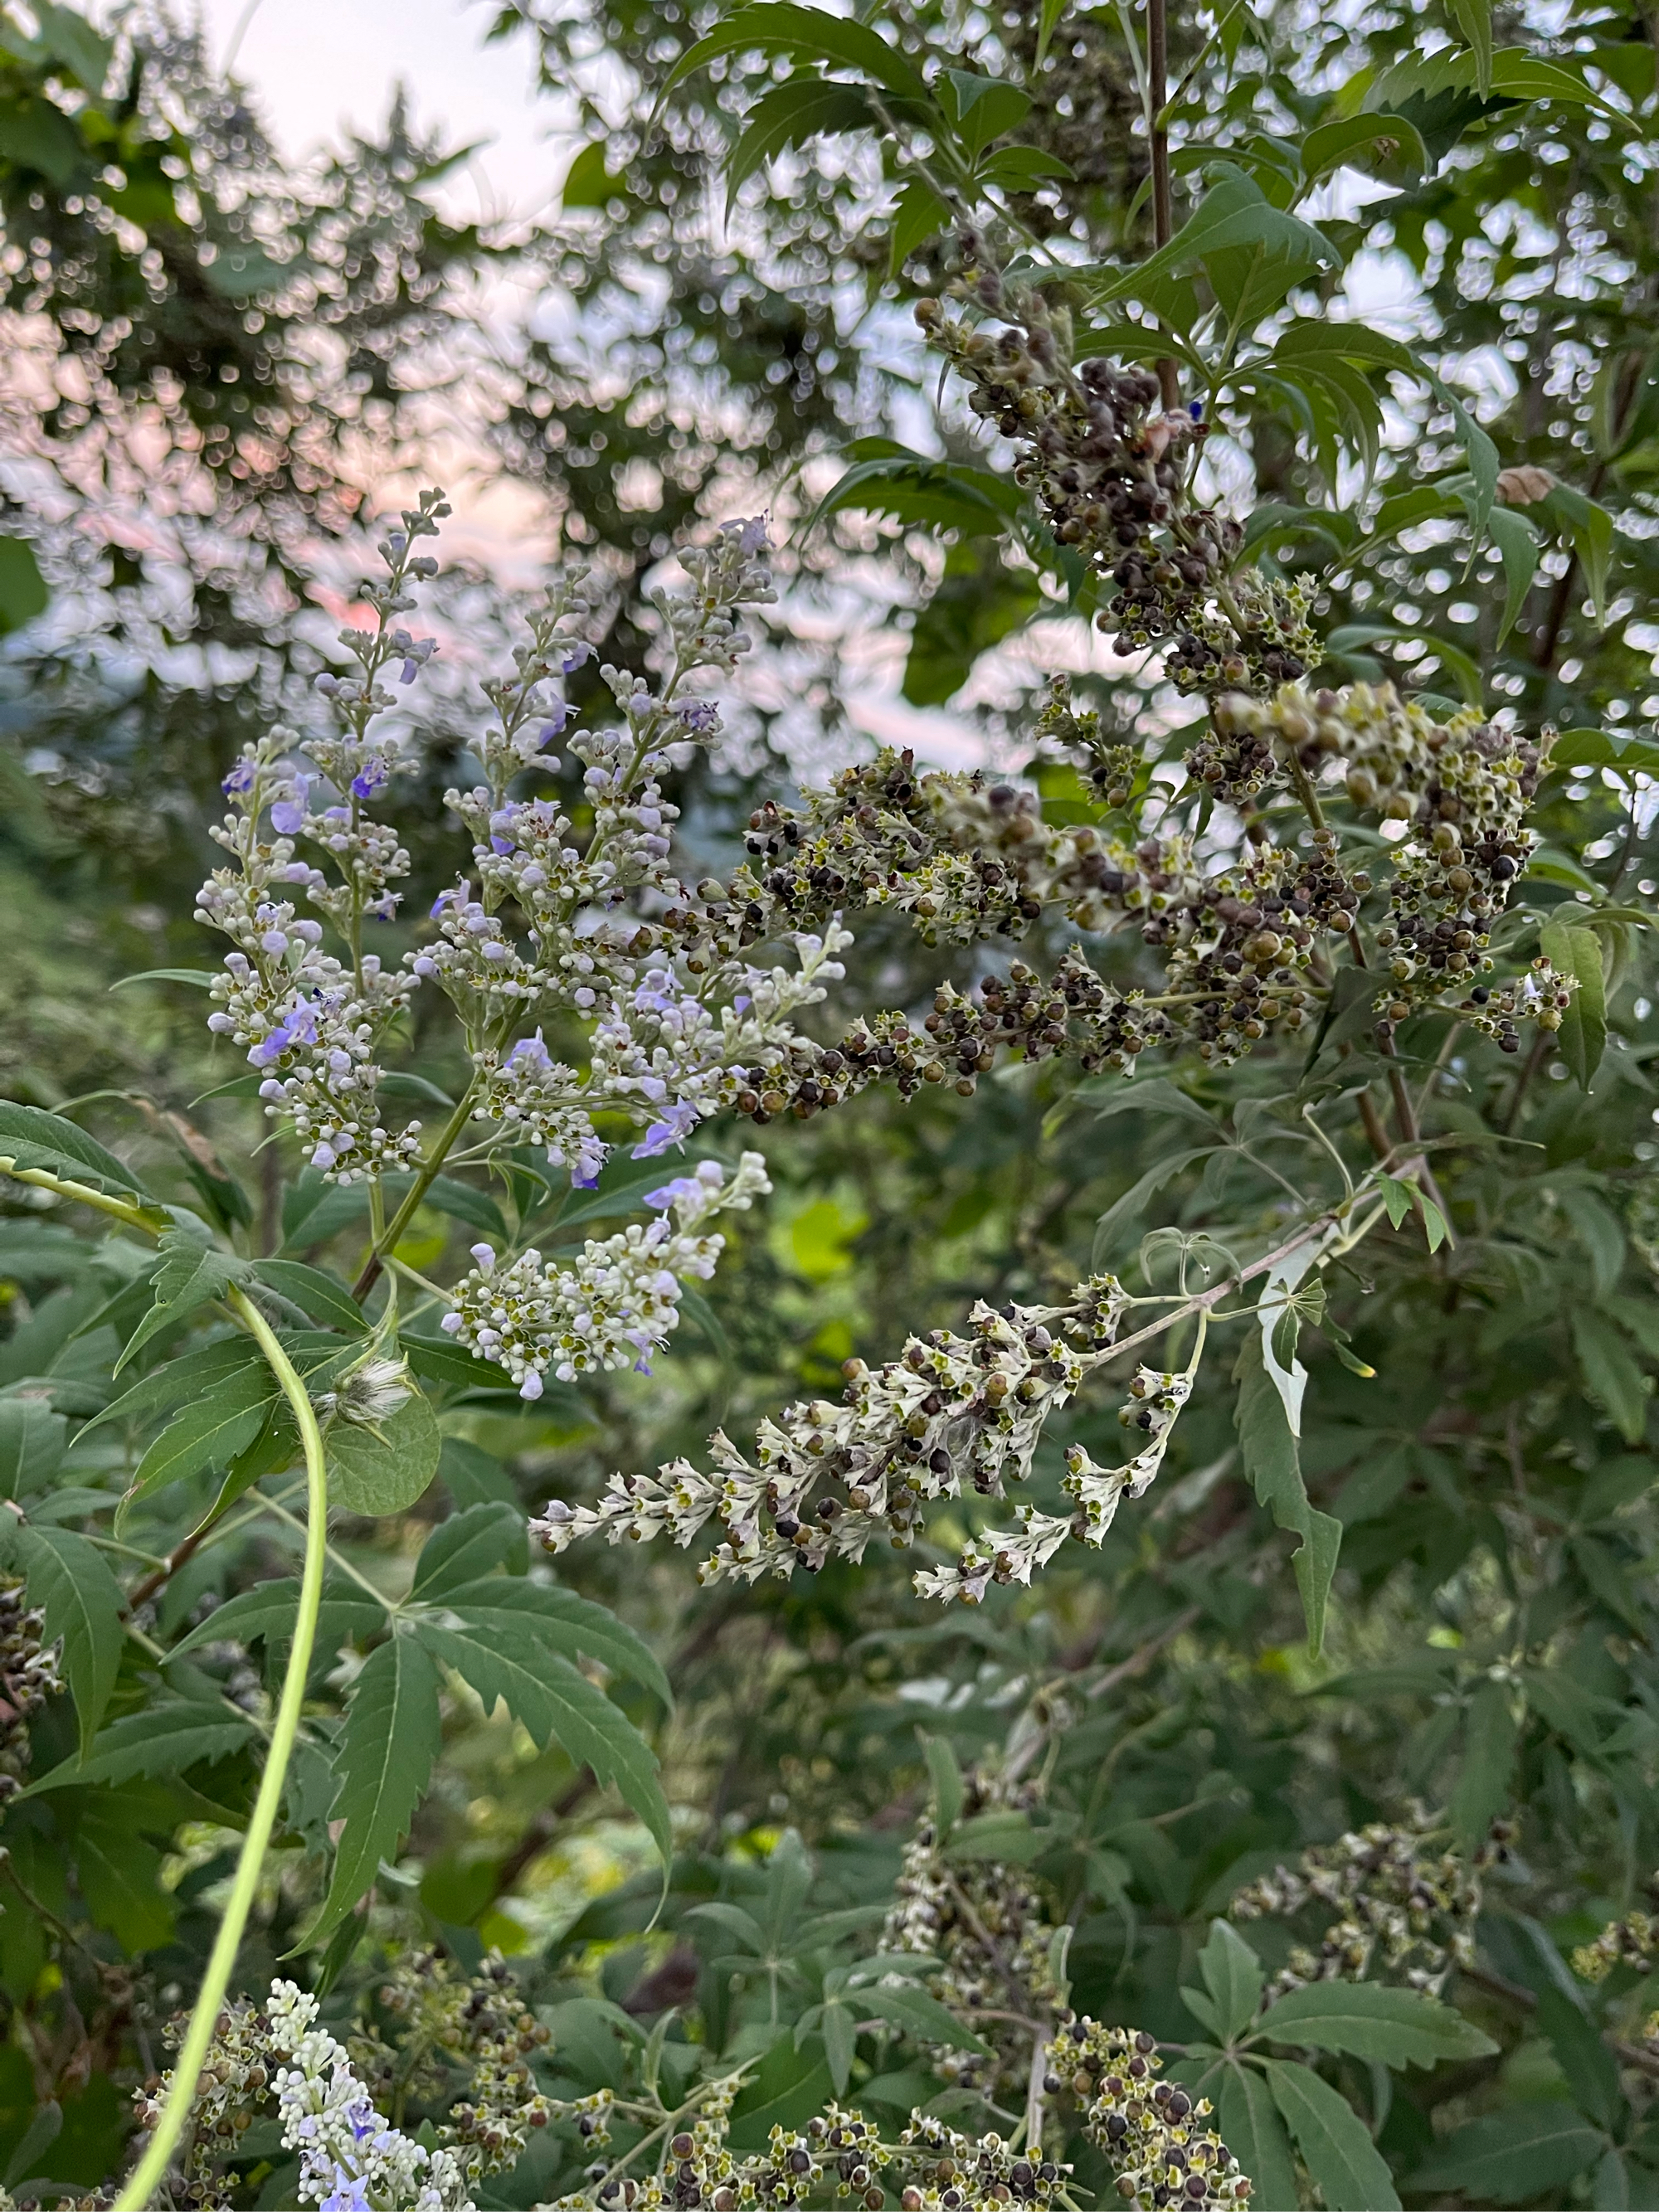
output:
<svg viewBox="0 0 1659 2212"><path fill-rule="evenodd" d="M343 1820L334 1878L305 1944L325 1942L374 1882L383 1858L396 1858L440 1743L438 1670L416 1637L392 1637L369 1652L334 1747Z"/></svg>

